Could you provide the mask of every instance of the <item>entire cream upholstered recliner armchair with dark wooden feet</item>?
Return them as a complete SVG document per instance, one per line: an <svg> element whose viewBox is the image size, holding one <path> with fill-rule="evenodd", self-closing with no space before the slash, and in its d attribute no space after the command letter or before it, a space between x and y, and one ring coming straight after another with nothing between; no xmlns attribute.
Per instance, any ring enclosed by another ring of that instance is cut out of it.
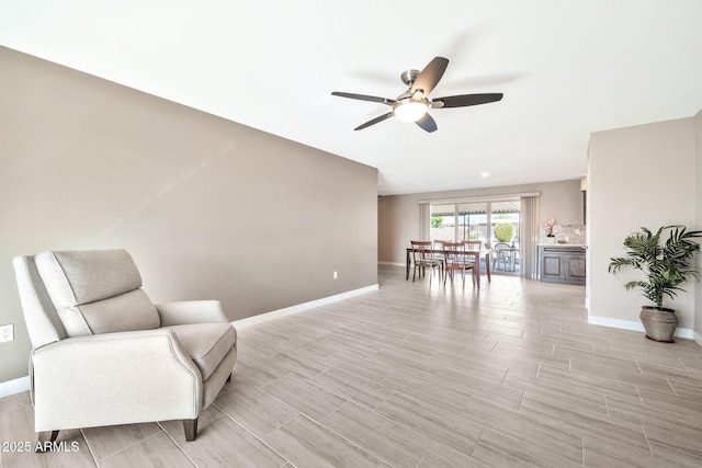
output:
<svg viewBox="0 0 702 468"><path fill-rule="evenodd" d="M237 357L218 301L151 304L125 250L44 252L13 264L39 442L64 429L168 420L196 437Z"/></svg>

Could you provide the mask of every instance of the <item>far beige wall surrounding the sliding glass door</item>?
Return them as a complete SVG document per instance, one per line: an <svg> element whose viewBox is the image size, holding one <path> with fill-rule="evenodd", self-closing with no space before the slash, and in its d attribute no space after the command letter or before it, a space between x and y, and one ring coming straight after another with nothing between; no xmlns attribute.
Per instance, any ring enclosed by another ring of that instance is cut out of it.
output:
<svg viewBox="0 0 702 468"><path fill-rule="evenodd" d="M420 236L419 202L541 192L541 221L553 216L559 225L582 224L580 179L529 185L393 195L378 198L378 261L405 263L405 250ZM541 222L540 222L541 224Z"/></svg>

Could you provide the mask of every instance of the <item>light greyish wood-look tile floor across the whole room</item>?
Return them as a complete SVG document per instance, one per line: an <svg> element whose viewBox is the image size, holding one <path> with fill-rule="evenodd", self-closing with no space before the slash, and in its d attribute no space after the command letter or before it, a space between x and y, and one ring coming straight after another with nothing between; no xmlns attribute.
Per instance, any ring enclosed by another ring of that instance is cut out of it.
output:
<svg viewBox="0 0 702 468"><path fill-rule="evenodd" d="M582 287L495 275L477 292L380 267L378 292L239 330L201 416L61 431L2 467L700 467L702 347L590 326ZM0 441L34 441L26 392ZM71 450L71 443L76 443ZM4 445L3 445L4 447Z"/></svg>

